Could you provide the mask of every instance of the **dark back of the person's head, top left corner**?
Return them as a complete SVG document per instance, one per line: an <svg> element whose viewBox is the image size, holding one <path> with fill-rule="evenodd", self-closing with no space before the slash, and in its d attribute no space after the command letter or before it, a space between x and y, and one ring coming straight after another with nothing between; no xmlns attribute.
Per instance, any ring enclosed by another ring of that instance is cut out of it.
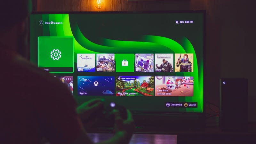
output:
<svg viewBox="0 0 256 144"><path fill-rule="evenodd" d="M30 0L8 1L0 5L1 48L13 49L23 56L28 51L28 15L32 11Z"/></svg>

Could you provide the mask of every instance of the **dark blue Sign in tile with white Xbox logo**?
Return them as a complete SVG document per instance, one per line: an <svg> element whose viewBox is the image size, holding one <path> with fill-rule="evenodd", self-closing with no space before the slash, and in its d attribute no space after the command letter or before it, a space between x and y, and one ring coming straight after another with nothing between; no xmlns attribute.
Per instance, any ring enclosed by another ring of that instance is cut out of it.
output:
<svg viewBox="0 0 256 144"><path fill-rule="evenodd" d="M77 76L78 95L114 96L114 76Z"/></svg>

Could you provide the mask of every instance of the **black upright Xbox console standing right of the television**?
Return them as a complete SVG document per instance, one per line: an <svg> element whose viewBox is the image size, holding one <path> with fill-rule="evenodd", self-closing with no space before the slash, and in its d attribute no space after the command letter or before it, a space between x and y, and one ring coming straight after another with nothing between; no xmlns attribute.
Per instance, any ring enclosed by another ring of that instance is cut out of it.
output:
<svg viewBox="0 0 256 144"><path fill-rule="evenodd" d="M247 79L220 79L220 128L223 131L248 130Z"/></svg>

